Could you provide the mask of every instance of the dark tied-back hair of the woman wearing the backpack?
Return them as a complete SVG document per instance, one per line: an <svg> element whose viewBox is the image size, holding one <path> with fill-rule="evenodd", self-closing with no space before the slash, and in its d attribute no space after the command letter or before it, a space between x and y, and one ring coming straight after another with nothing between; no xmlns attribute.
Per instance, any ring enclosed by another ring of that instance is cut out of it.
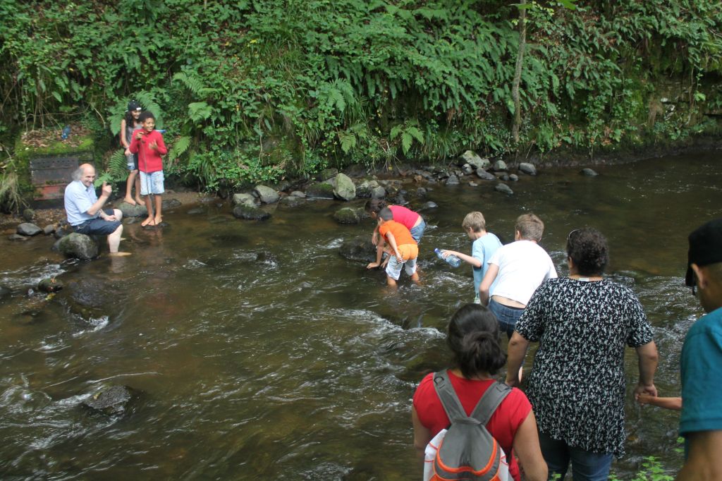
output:
<svg viewBox="0 0 722 481"><path fill-rule="evenodd" d="M486 306L461 306L449 321L446 344L454 366L465 378L493 376L506 363L506 354L499 345L496 316Z"/></svg>

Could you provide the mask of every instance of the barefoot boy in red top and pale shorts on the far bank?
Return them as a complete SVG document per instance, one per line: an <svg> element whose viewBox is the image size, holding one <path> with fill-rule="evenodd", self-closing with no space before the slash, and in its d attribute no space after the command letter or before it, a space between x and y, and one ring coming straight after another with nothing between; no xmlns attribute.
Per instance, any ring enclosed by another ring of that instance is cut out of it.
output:
<svg viewBox="0 0 722 481"><path fill-rule="evenodd" d="M162 134L155 130L155 116L151 112L140 114L138 119L142 129L133 132L133 140L129 150L138 154L138 168L140 170L140 193L145 196L145 207L148 209L148 218L141 225L159 225L162 222L162 198L165 192L163 188L163 160L160 157L168 153L163 142ZM153 203L149 194L155 197L155 215L153 215Z"/></svg>

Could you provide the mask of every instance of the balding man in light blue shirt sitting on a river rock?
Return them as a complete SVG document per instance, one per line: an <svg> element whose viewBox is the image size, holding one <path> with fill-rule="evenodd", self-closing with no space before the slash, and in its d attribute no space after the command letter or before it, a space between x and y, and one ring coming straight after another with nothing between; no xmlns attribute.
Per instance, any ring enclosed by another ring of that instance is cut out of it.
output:
<svg viewBox="0 0 722 481"><path fill-rule="evenodd" d="M73 181L65 188L65 212L73 230L85 235L108 235L111 256L129 256L129 252L118 252L121 243L123 212L118 209L103 211L103 205L113 188L103 182L100 199L95 194L95 167L82 164L73 173Z"/></svg>

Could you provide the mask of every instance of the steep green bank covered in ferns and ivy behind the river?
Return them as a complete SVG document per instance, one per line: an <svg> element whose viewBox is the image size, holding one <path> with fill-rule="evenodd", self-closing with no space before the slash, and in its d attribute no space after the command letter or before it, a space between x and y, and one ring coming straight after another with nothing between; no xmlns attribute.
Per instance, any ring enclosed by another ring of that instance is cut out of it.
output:
<svg viewBox="0 0 722 481"><path fill-rule="evenodd" d="M168 129L168 169L219 188L718 133L719 1L520 4L0 0L0 136L82 118L110 146L135 97Z"/></svg>

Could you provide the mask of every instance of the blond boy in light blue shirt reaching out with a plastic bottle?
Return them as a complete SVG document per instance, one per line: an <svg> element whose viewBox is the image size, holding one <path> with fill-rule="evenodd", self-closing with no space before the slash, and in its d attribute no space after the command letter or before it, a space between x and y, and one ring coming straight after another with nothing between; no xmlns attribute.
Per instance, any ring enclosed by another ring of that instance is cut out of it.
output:
<svg viewBox="0 0 722 481"><path fill-rule="evenodd" d="M448 256L457 256L462 261L471 264L474 273L474 303L479 304L479 285L489 269L489 259L502 244L496 235L487 232L487 222L481 212L469 212L464 217L464 222L461 222L461 228L474 241L471 243L471 256L457 251L441 251L441 256L444 259Z"/></svg>

